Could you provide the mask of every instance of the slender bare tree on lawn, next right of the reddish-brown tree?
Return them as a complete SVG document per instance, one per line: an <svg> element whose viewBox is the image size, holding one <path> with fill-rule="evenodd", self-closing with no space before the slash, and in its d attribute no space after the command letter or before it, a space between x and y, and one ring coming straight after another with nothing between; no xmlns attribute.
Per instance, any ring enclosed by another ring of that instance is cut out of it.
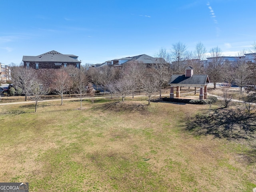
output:
<svg viewBox="0 0 256 192"><path fill-rule="evenodd" d="M78 71L78 74L76 75L76 87L75 90L79 95L80 98L80 108L82 108L82 98L84 98L84 95L86 94L88 85L88 80L86 78L86 75L82 70Z"/></svg>

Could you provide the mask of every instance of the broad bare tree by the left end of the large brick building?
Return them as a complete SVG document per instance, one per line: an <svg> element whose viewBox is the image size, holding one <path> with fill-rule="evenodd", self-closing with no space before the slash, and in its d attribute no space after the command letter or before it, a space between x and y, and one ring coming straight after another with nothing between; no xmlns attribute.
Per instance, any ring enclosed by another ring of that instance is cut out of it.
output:
<svg viewBox="0 0 256 192"><path fill-rule="evenodd" d="M32 85L36 79L36 73L32 69L25 69L23 66L13 67L11 70L12 82L18 90L22 89L22 93L25 95L25 100L28 100L30 91L32 90Z"/></svg>

